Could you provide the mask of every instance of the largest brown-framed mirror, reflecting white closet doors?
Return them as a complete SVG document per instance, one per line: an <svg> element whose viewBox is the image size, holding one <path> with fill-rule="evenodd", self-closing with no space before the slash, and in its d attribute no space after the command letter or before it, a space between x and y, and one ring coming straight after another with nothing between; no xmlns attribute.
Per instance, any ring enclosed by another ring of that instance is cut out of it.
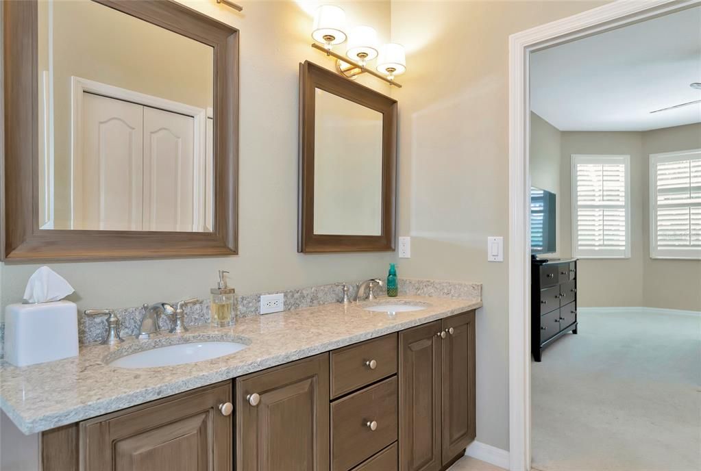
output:
<svg viewBox="0 0 701 471"><path fill-rule="evenodd" d="M238 31L175 1L2 15L2 258L236 254Z"/></svg>

